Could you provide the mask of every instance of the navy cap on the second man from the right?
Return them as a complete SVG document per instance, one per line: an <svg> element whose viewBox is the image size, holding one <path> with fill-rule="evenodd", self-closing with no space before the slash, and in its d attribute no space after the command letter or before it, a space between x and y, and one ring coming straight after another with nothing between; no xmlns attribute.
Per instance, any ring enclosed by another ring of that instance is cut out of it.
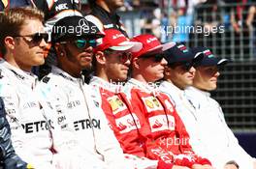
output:
<svg viewBox="0 0 256 169"><path fill-rule="evenodd" d="M199 59L182 43L176 43L173 47L164 51L165 59L168 65L175 63L192 63ZM201 57L202 59L202 57ZM200 59L200 60L201 60Z"/></svg>

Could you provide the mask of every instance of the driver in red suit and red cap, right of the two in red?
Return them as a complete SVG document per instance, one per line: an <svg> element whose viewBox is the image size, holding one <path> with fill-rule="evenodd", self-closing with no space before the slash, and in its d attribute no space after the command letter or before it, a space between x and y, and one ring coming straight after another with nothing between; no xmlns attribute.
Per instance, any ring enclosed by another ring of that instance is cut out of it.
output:
<svg viewBox="0 0 256 169"><path fill-rule="evenodd" d="M210 168L208 159L193 153L187 142L189 135L176 114L175 107L155 84L164 77L167 65L162 50L175 43L162 45L151 35L137 36L132 42L142 42L143 48L133 52L132 78L123 91L124 97L128 99L127 104L130 104L132 112L139 119L140 135L146 138L145 155L158 159L167 168Z"/></svg>

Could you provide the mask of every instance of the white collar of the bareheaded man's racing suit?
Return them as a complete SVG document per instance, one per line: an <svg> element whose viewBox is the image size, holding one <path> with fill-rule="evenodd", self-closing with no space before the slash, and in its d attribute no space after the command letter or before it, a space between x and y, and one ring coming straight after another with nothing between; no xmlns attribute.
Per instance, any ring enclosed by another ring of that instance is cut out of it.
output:
<svg viewBox="0 0 256 169"><path fill-rule="evenodd" d="M12 73L16 76L16 79L22 81L22 83L31 86L32 89L36 86L38 77L32 72L17 69L16 67L9 64L4 59L0 60L0 69L8 70L8 73Z"/></svg>

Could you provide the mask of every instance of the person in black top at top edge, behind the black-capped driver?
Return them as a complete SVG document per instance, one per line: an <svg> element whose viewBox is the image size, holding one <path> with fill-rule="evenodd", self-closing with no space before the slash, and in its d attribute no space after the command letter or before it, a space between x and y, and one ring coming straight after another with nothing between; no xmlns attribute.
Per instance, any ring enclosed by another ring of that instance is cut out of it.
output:
<svg viewBox="0 0 256 169"><path fill-rule="evenodd" d="M120 21L120 16L116 14L116 10L123 7L124 0L88 0L91 9L91 15L97 17L100 29L117 29L123 35L128 37L123 24Z"/></svg>

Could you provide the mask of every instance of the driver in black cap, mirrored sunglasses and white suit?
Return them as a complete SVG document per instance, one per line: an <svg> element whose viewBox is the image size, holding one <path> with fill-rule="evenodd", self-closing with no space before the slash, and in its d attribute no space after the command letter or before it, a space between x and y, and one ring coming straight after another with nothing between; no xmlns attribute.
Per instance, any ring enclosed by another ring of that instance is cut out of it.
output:
<svg viewBox="0 0 256 169"><path fill-rule="evenodd" d="M80 27L81 32L54 32L55 28ZM84 24L83 24L84 26ZM57 67L42 79L42 97L56 111L52 131L54 163L67 169L134 169L109 127L93 89L84 83L81 70L90 69L95 39L102 38L95 25L80 16L68 16L53 26L51 39Z"/></svg>

